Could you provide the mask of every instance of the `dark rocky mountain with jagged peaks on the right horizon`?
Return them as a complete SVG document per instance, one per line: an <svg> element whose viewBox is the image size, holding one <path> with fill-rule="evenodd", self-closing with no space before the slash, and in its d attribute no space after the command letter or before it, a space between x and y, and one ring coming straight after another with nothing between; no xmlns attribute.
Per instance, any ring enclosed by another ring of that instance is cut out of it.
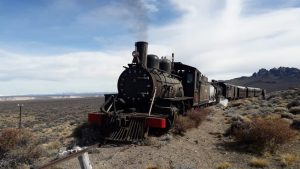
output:
<svg viewBox="0 0 300 169"><path fill-rule="evenodd" d="M260 69L250 77L239 77L226 82L267 89L267 91L285 90L300 87L300 70L297 68L279 67L270 70Z"/></svg>

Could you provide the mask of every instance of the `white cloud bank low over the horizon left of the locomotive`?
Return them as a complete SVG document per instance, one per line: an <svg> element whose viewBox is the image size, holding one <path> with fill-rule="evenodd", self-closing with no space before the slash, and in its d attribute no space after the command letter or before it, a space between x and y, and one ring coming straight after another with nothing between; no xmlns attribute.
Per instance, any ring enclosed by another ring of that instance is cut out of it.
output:
<svg viewBox="0 0 300 169"><path fill-rule="evenodd" d="M118 76L131 59L130 53L26 56L0 50L1 94L116 91Z"/></svg>

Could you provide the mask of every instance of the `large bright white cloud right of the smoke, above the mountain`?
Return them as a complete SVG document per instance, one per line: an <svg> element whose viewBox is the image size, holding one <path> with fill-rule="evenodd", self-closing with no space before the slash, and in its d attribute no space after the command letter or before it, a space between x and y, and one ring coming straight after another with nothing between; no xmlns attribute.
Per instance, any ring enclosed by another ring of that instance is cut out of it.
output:
<svg viewBox="0 0 300 169"><path fill-rule="evenodd" d="M300 67L300 8L244 15L250 6L243 0L226 0L223 5L214 0L172 2L184 15L151 30L151 40L174 49L175 59L208 77L234 78L262 67Z"/></svg>

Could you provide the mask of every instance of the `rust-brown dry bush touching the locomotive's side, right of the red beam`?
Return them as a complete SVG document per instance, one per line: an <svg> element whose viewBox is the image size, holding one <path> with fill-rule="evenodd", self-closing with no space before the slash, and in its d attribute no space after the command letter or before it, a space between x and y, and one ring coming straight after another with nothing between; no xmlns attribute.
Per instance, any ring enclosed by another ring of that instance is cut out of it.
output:
<svg viewBox="0 0 300 169"><path fill-rule="evenodd" d="M188 129L197 128L206 119L208 114L209 111L207 109L193 109L187 112L186 116L178 116L175 119L173 132L184 135Z"/></svg>

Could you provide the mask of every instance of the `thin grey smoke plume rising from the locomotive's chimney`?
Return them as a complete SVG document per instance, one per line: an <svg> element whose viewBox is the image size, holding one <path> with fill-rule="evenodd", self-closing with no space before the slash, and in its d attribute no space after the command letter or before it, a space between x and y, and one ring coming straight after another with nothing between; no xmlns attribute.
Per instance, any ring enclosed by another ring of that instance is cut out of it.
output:
<svg viewBox="0 0 300 169"><path fill-rule="evenodd" d="M148 27L149 27L149 13L153 10L150 1L146 0L122 0L122 5L130 13L129 22L130 31L136 35L139 41L148 40Z"/></svg>

